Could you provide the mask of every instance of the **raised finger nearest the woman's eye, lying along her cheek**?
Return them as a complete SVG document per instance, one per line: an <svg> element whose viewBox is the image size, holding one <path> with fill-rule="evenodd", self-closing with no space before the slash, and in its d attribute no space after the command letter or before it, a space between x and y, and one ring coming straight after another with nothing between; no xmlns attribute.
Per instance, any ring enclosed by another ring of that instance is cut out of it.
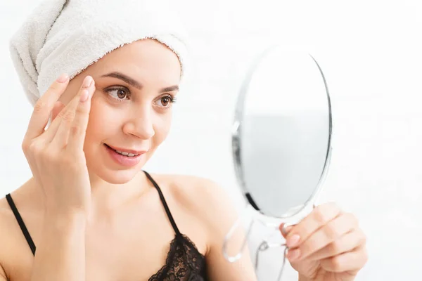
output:
<svg viewBox="0 0 422 281"><path fill-rule="evenodd" d="M94 80L93 80L94 81ZM75 120L70 129L70 136L68 138L68 146L66 150L71 153L78 153L84 150L85 135L89 121L89 112L91 110L91 98L95 91L94 82L89 89L85 89L82 96L79 98L79 103L76 108Z"/></svg>

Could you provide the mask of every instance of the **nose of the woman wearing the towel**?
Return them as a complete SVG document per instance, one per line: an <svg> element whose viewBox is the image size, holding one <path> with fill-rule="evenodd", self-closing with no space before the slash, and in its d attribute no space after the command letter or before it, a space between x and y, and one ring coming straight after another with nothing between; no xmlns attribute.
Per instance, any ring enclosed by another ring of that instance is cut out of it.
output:
<svg viewBox="0 0 422 281"><path fill-rule="evenodd" d="M123 125L123 132L142 139L152 138L155 134L153 116L147 108L137 108L131 112L129 121Z"/></svg>

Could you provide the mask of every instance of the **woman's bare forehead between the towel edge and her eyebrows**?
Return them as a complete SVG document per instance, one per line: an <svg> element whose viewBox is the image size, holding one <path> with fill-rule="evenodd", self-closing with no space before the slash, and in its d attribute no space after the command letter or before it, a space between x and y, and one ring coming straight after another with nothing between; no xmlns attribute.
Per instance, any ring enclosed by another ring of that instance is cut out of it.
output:
<svg viewBox="0 0 422 281"><path fill-rule="evenodd" d="M165 84L179 84L181 75L177 55L154 39L142 39L117 48L89 68L90 72L124 72L139 79Z"/></svg>

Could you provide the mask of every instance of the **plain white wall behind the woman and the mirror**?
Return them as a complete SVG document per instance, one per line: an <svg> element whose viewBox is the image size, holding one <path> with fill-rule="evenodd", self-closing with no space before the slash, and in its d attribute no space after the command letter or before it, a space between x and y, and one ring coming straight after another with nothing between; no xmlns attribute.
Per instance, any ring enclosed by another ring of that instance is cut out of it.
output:
<svg viewBox="0 0 422 281"><path fill-rule="evenodd" d="M39 0L0 0L0 195L30 177L20 142L31 110L8 38ZM196 174L240 206L230 128L246 67L270 41L307 46L333 103L333 158L323 200L356 214L370 260L357 280L418 280L422 261L421 2L174 1L191 31L195 70L179 96L168 140L151 171ZM118 15L117 15L118 16ZM251 240L255 250L257 238ZM279 252L260 280L275 280ZM295 280L291 268L286 280Z"/></svg>

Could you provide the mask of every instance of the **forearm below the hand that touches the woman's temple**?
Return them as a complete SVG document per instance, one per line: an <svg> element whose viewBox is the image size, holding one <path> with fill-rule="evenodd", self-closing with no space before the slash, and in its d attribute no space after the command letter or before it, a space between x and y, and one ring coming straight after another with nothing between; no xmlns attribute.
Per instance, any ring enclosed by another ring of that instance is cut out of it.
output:
<svg viewBox="0 0 422 281"><path fill-rule="evenodd" d="M85 280L84 214L47 214L31 281Z"/></svg>

